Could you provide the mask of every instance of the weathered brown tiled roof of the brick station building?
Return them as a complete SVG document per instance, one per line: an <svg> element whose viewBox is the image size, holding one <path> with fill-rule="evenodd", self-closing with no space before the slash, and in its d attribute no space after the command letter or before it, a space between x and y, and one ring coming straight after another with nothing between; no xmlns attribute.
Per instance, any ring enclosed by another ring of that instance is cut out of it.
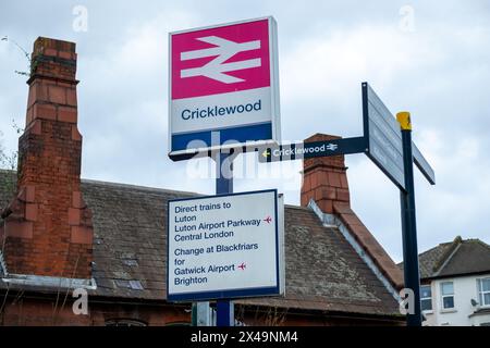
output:
<svg viewBox="0 0 490 348"><path fill-rule="evenodd" d="M0 207L12 197L0 171ZM167 201L196 194L82 181L94 214L95 295L164 300ZM397 303L336 228L285 207L285 297L240 302L287 309L396 315Z"/></svg>

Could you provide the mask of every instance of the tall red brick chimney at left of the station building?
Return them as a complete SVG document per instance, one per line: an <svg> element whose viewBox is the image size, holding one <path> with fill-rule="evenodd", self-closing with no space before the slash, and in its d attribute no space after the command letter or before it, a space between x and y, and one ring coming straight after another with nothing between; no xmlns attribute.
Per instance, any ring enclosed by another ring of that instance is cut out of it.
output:
<svg viewBox="0 0 490 348"><path fill-rule="evenodd" d="M0 229L9 274L90 278L91 212L82 199L75 44L39 37L19 139L17 195Z"/></svg>

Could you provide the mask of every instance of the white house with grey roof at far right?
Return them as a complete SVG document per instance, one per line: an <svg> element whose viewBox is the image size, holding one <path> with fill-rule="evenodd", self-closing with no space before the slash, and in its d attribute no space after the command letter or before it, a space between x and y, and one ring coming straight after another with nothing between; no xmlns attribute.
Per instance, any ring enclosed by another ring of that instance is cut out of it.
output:
<svg viewBox="0 0 490 348"><path fill-rule="evenodd" d="M490 246L456 237L422 252L419 264L424 325L490 325Z"/></svg>

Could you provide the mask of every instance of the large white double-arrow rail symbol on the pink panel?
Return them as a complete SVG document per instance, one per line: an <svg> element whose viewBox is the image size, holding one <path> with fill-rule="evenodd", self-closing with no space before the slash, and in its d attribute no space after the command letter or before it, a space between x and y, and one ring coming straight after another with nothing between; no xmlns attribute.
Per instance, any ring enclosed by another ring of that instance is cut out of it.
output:
<svg viewBox="0 0 490 348"><path fill-rule="evenodd" d="M244 70L249 67L260 66L260 58L248 59L237 62L224 63L230 58L238 52L252 51L260 48L260 40L248 42L234 42L223 39L218 36L199 37L197 40L215 45L216 47L206 48L201 50L194 50L187 52L181 52L181 61L187 61L192 59L215 57L212 61L200 67L184 69L181 71L181 78L206 76L223 84L234 84L243 82L243 78L226 75L224 73L234 72L237 70Z"/></svg>

